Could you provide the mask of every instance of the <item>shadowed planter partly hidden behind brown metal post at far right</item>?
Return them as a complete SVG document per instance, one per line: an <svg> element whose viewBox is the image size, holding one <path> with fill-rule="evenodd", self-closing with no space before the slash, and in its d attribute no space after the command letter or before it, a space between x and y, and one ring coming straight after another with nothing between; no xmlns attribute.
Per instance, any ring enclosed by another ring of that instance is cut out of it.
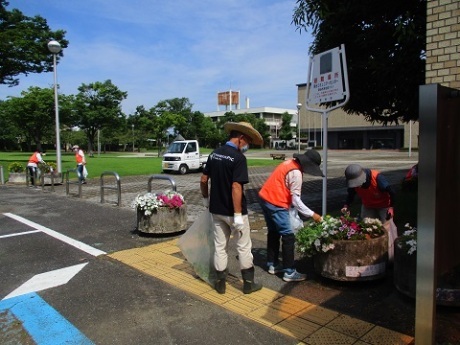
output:
<svg viewBox="0 0 460 345"><path fill-rule="evenodd" d="M409 255L404 246L404 238L397 238L394 243L394 280L396 289L402 294L415 298L417 252ZM444 306L460 306L460 289L453 286L442 286L442 279L438 279L436 288L436 304Z"/></svg>

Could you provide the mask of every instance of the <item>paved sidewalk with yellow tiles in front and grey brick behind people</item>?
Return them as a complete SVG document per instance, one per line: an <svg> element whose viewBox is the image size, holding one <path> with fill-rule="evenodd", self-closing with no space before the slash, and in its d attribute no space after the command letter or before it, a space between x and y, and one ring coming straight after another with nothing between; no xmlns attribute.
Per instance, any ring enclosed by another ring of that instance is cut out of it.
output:
<svg viewBox="0 0 460 345"><path fill-rule="evenodd" d="M292 153L287 152L287 156ZM391 183L398 185L407 170L416 162L416 155L408 157L407 153L395 151L330 152L327 174L327 209L337 209L343 204L346 196L343 172L348 164L360 163L365 167L379 169ZM305 282L285 283L280 277L269 275L264 271L266 230L258 205L257 193L272 170L273 168L250 168L250 183L245 186L250 209L256 279L264 286L260 294L254 293L250 295L251 297L241 294L238 262L235 258L236 253L232 252L229 262L230 277L232 277L229 294L225 299L217 299L217 294L205 283L197 280L188 264L181 258L175 244L177 236L155 239L155 242L158 243L149 246L117 250L112 252L110 257L306 344L332 344L338 343L339 339L343 344L410 343L414 332L414 302L401 296L395 290L391 271L381 281L360 284L334 282L317 277L313 272L311 260L302 258L298 258L298 267L309 277ZM167 176L175 181L177 191L184 195L188 205L188 221L191 224L204 210L199 191L200 174ZM120 209L123 209L123 213L131 212L133 220L135 212L130 208L130 204L137 194L147 191L148 180L149 176L121 177ZM115 181L111 181L110 178L105 180L105 185L114 183ZM322 183L321 178L304 177L303 199L310 208L317 212L321 212ZM168 187L169 182L165 180L155 180L152 184L153 191L164 190ZM102 212L107 210L104 214L107 217L111 217L119 209L114 205L117 195L111 190L105 191L105 203L100 203L99 178L89 179L88 184L82 186L82 198L78 197L77 191L77 185L70 185L70 193L66 195L65 186L60 185L55 186L54 192L50 192L47 187L43 193L47 198L48 196L56 198L56 202L59 202L60 198L72 200L72 203L80 204L81 209L97 204L94 212L101 213L100 210ZM42 191L30 190L30 193L42 193ZM134 222L133 228L126 229L126 231L133 230ZM143 235L137 234L137 236L142 241ZM133 260L133 257L137 257L137 260ZM162 274L165 272L164 267L174 269L175 273ZM265 297L259 298L259 295ZM266 296L272 297L267 298ZM265 310L266 313L257 316L257 310ZM319 314L316 315L317 313ZM276 317L273 318L273 316Z"/></svg>

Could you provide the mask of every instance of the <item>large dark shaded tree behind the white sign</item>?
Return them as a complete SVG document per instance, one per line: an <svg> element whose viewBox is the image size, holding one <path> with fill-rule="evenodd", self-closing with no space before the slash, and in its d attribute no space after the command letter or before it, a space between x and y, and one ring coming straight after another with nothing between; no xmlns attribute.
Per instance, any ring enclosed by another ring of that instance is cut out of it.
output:
<svg viewBox="0 0 460 345"><path fill-rule="evenodd" d="M426 0L297 0L292 22L312 30L312 54L345 45L348 114L383 124L418 119Z"/></svg>

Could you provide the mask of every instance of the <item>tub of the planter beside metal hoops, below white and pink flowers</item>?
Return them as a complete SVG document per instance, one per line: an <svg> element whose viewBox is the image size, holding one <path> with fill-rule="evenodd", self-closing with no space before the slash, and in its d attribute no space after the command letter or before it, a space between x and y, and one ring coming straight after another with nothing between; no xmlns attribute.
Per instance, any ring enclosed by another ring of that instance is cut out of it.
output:
<svg viewBox="0 0 460 345"><path fill-rule="evenodd" d="M149 234L169 234L187 229L187 207L160 207L146 216L137 211L137 230Z"/></svg>

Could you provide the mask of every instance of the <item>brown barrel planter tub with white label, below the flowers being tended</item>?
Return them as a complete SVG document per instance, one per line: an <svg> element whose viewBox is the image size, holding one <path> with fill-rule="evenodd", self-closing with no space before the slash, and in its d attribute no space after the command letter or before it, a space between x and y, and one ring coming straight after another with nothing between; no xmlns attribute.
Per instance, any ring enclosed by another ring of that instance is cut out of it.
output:
<svg viewBox="0 0 460 345"><path fill-rule="evenodd" d="M334 240L335 248L313 257L321 276L339 281L383 278L388 262L388 236L358 241Z"/></svg>

